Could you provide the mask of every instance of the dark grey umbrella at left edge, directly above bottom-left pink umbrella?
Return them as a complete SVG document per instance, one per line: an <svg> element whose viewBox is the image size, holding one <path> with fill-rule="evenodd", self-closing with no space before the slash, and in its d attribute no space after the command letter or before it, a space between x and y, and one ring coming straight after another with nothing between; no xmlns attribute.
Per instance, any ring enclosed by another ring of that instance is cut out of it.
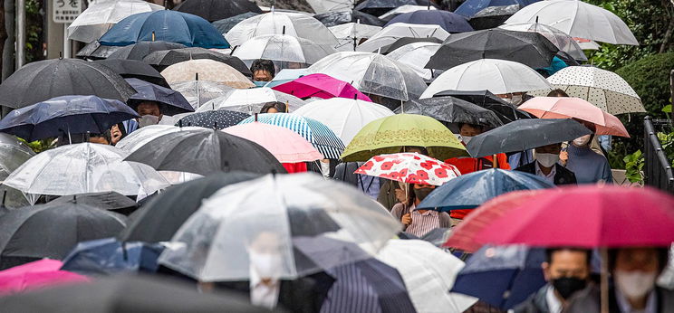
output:
<svg viewBox="0 0 674 313"><path fill-rule="evenodd" d="M86 204L40 204L0 217L0 269L43 258L61 260L77 242L111 237L124 215Z"/></svg>

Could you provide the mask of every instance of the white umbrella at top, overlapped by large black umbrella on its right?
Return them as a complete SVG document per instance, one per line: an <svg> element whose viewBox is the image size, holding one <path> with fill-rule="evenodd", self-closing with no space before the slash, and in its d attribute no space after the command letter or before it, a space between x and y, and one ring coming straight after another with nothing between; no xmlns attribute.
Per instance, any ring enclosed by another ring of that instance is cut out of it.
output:
<svg viewBox="0 0 674 313"><path fill-rule="evenodd" d="M400 38L438 38L444 41L449 33L439 25L434 24L407 24L396 23L384 27L374 34L365 43L361 43L356 50L360 52L375 52L380 48L395 43Z"/></svg>

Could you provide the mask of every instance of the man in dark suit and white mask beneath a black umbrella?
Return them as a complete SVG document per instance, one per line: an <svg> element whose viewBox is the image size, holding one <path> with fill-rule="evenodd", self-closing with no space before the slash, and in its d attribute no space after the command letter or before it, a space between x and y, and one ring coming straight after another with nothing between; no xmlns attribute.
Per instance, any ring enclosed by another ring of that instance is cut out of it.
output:
<svg viewBox="0 0 674 313"><path fill-rule="evenodd" d="M535 148L534 162L519 166L515 171L539 175L554 185L575 185L576 178L572 171L557 163L562 152L562 143Z"/></svg>

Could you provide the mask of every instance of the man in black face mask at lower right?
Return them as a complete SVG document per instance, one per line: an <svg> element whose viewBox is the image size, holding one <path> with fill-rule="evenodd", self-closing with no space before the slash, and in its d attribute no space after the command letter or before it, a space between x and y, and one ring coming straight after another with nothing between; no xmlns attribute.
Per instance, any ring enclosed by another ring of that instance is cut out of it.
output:
<svg viewBox="0 0 674 313"><path fill-rule="evenodd" d="M591 251L553 248L545 257L541 267L547 284L517 305L515 313L560 313L574 293L588 286Z"/></svg>

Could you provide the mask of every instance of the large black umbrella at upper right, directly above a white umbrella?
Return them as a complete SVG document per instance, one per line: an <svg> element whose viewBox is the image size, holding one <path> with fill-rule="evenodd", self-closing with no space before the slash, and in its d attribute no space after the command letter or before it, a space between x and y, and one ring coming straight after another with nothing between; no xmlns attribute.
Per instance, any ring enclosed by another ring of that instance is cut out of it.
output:
<svg viewBox="0 0 674 313"><path fill-rule="evenodd" d="M540 33L495 28L452 34L426 64L427 69L448 70L479 59L524 63L534 69L550 66L559 49Z"/></svg>

